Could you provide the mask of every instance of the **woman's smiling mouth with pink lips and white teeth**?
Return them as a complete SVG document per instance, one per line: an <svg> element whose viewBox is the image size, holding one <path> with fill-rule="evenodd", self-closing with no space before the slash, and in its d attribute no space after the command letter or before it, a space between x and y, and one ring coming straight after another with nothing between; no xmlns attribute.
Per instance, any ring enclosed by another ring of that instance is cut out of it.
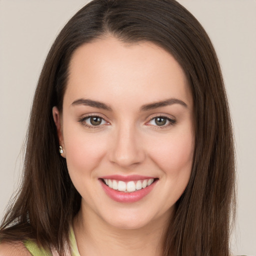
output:
<svg viewBox="0 0 256 256"><path fill-rule="evenodd" d="M117 202L135 202L146 196L157 183L153 177L102 177L99 178L105 193Z"/></svg>

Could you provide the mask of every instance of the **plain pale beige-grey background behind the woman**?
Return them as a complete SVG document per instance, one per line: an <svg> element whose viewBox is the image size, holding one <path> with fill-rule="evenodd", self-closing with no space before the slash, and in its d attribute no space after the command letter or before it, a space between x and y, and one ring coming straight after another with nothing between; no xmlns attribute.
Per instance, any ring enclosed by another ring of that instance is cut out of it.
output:
<svg viewBox="0 0 256 256"><path fill-rule="evenodd" d="M0 0L0 218L17 187L22 143L44 58L85 0ZM201 22L218 54L237 154L234 254L256 255L256 1L179 0Z"/></svg>

